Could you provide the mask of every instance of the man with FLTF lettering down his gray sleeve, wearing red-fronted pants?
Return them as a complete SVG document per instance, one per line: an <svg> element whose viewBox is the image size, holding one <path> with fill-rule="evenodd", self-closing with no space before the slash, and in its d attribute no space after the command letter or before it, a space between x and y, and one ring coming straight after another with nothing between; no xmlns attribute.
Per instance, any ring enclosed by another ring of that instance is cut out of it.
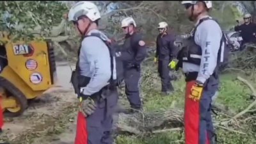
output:
<svg viewBox="0 0 256 144"><path fill-rule="evenodd" d="M189 20L195 22L188 44L179 51L177 67L186 77L184 127L186 144L216 143L211 102L218 91L219 67L227 60L220 25L209 16L212 1L182 1Z"/></svg>

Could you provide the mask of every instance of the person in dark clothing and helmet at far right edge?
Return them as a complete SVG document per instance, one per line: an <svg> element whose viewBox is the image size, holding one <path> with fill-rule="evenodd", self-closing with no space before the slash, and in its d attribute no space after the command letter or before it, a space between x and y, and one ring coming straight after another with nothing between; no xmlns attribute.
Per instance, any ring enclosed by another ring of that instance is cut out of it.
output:
<svg viewBox="0 0 256 144"><path fill-rule="evenodd" d="M240 31L243 41L241 43L240 50L243 49L243 45L249 42L256 42L255 33L256 33L256 24L252 22L252 15L246 13L244 15L244 24L235 26L235 31Z"/></svg>

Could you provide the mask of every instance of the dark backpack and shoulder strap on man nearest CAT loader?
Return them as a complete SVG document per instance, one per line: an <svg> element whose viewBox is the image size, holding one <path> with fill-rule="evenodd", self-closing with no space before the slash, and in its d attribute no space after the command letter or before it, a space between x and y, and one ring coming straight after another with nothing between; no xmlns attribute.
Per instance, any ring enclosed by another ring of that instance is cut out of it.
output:
<svg viewBox="0 0 256 144"><path fill-rule="evenodd" d="M109 79L110 88L120 86L124 81L124 66L122 61L116 60L116 47L114 46L115 42L108 42L107 40L104 40L99 33L92 33L88 36L96 36L100 38L100 40L102 40L108 47L111 60L111 78ZM84 38L88 36L84 36Z"/></svg>

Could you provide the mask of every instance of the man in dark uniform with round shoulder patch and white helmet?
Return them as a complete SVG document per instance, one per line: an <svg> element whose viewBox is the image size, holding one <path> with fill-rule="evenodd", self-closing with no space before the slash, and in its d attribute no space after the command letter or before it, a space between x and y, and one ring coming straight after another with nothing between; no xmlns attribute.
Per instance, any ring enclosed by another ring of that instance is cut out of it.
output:
<svg viewBox="0 0 256 144"><path fill-rule="evenodd" d="M147 56L147 48L142 35L136 31L137 24L132 17L123 19L121 27L125 33L125 42L122 51L117 52L116 60L124 63L125 95L131 105L131 111L127 113L134 113L142 110L139 80L141 62Z"/></svg>

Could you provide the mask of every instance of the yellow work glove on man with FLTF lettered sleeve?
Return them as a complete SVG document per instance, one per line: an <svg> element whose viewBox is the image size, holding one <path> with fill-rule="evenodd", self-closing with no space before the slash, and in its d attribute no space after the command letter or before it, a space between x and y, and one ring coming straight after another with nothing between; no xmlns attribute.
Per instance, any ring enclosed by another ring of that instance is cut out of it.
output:
<svg viewBox="0 0 256 144"><path fill-rule="evenodd" d="M195 83L191 88L189 98L195 101L200 100L200 98L202 97L203 88L204 88L203 84Z"/></svg>

